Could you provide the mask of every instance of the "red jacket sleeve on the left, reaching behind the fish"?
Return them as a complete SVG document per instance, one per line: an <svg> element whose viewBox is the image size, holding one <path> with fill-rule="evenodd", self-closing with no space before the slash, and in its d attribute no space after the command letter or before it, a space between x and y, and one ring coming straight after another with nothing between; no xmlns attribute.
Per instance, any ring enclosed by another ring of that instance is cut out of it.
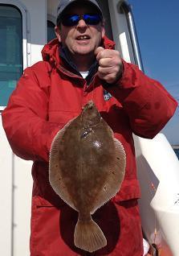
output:
<svg viewBox="0 0 179 256"><path fill-rule="evenodd" d="M48 161L51 142L61 128L47 119L50 78L44 63L35 64L36 73L43 73L41 81L33 66L26 68L2 111L2 124L14 154L27 160Z"/></svg>

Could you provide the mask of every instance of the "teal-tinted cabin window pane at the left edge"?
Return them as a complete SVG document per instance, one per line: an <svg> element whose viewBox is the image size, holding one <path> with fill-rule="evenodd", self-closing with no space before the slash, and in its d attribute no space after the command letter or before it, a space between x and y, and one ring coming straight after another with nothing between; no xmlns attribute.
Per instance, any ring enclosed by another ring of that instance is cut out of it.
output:
<svg viewBox="0 0 179 256"><path fill-rule="evenodd" d="M6 106L22 75L22 14L0 4L0 106Z"/></svg>

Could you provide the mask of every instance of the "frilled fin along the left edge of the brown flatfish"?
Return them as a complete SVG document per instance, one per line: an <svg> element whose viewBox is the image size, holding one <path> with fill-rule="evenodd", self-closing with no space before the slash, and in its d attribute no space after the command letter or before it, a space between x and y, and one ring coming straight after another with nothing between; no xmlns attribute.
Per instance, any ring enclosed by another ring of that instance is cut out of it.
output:
<svg viewBox="0 0 179 256"><path fill-rule="evenodd" d="M67 192L67 188L63 181L59 167L59 147L63 147L60 142L62 141L63 134L67 129L67 126L69 126L74 119L75 118L71 119L65 126L63 126L61 130L59 130L59 132L55 135L53 142L51 143L49 159L49 182L57 195L59 195L68 205L70 205L72 209L77 211L69 193Z"/></svg>

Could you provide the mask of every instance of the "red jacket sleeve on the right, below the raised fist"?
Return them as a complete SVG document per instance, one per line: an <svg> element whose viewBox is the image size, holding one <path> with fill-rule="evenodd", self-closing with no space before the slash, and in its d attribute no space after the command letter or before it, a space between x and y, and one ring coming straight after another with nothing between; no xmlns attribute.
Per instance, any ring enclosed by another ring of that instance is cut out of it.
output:
<svg viewBox="0 0 179 256"><path fill-rule="evenodd" d="M123 105L132 132L143 138L153 138L172 118L177 101L136 65L124 60L123 64L124 72L120 80L106 89Z"/></svg>

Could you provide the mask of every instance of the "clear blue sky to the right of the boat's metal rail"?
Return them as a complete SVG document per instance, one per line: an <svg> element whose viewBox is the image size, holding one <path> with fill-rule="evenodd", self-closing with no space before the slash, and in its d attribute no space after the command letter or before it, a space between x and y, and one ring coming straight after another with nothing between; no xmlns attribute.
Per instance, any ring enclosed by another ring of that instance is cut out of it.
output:
<svg viewBox="0 0 179 256"><path fill-rule="evenodd" d="M128 0L136 23L146 75L158 80L179 102L179 1ZM179 144L179 108L162 132Z"/></svg>

